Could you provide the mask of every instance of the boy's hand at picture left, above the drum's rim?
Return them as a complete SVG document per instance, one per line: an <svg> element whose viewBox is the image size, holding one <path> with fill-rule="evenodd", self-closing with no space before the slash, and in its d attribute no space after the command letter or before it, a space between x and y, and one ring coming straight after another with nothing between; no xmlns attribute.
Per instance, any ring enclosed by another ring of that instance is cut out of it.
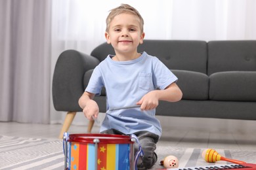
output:
<svg viewBox="0 0 256 170"><path fill-rule="evenodd" d="M89 99L89 101L87 101L85 108L83 108L83 114L85 115L85 117L89 120L93 120L93 116L95 118L98 117L98 105L96 103L96 101Z"/></svg>

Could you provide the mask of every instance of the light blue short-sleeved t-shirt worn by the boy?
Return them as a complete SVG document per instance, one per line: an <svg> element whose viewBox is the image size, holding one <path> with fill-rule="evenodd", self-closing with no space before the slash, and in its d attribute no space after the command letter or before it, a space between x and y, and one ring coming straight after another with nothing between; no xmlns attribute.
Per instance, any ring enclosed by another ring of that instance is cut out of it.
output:
<svg viewBox="0 0 256 170"><path fill-rule="evenodd" d="M100 95L102 87L106 88L107 111L100 131L117 129L125 134L150 131L161 136L156 109L142 111L136 103L146 93L163 90L178 78L158 58L146 52L130 61L114 61L112 57L109 55L95 67L85 89Z"/></svg>

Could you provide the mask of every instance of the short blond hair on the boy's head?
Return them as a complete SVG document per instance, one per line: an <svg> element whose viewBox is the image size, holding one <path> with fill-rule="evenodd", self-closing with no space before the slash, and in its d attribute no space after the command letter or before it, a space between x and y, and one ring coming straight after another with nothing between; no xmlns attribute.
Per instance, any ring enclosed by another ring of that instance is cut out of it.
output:
<svg viewBox="0 0 256 170"><path fill-rule="evenodd" d="M108 14L108 17L106 18L106 32L109 31L110 29L110 22L112 22L113 18L119 14L134 14L135 16L138 16L140 19L140 31L143 33L143 25L144 25L144 20L142 16L140 16L140 13L138 12L137 9L131 7L130 5L127 4L121 4L119 7L116 7L115 9L110 10L110 14Z"/></svg>

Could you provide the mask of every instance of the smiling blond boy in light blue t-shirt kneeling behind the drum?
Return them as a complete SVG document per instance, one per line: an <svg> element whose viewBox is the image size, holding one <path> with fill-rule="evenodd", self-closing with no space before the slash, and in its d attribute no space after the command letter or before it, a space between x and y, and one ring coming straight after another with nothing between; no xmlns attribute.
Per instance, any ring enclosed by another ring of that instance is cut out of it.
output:
<svg viewBox="0 0 256 170"><path fill-rule="evenodd" d="M104 86L107 111L100 133L137 135L144 151L137 166L149 169L157 161L154 150L161 136L155 118L158 101L179 101L182 92L175 83L177 77L158 58L137 52L145 36L143 24L139 12L129 5L111 10L105 37L116 55L108 55L94 69L79 106L86 118L96 118L99 109L93 97L100 95Z"/></svg>

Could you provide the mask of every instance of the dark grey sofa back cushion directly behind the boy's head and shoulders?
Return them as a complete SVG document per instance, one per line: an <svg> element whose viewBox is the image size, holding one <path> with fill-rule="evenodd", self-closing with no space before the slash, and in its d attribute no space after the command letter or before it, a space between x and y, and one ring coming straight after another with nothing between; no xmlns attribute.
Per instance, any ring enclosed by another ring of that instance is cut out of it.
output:
<svg viewBox="0 0 256 170"><path fill-rule="evenodd" d="M169 69L207 72L207 42L178 40L144 40L138 52L145 51L159 58ZM100 61L108 54L115 54L112 46L106 42L97 46L91 56Z"/></svg>

